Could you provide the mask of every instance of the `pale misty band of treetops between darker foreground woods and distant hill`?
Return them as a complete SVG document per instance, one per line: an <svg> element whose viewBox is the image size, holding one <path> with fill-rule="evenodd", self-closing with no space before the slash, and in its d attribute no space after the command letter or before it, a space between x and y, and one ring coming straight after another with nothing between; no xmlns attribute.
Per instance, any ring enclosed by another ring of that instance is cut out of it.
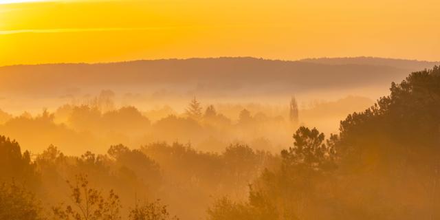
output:
<svg viewBox="0 0 440 220"><path fill-rule="evenodd" d="M373 104L359 96L310 102L288 98L281 105L191 98L185 109L177 111L169 106L140 109L121 104L115 96L103 90L97 96L33 114L0 111L0 133L14 137L33 154L50 144L67 155L81 155L85 151L107 153L115 143L136 148L151 142L190 142L197 150L216 153L230 144L248 144L279 153L292 142L292 131L298 125L313 124L322 132L336 132L340 118Z"/></svg>

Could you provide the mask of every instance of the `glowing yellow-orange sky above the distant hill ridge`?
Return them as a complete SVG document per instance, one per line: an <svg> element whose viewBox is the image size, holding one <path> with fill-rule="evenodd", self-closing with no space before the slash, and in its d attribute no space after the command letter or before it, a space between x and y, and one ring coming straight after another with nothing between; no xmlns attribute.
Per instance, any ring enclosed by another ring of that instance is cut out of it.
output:
<svg viewBox="0 0 440 220"><path fill-rule="evenodd" d="M440 61L438 0L0 0L0 66L159 58Z"/></svg>

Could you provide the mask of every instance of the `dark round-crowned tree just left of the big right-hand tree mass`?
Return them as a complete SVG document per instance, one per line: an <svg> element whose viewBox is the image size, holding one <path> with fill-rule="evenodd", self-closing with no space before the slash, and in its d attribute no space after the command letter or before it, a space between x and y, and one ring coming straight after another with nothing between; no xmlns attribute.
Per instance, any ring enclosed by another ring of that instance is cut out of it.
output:
<svg viewBox="0 0 440 220"><path fill-rule="evenodd" d="M312 204L321 202L318 186L336 168L335 152L315 128L301 126L293 137L294 146L281 151L281 167L265 170L252 186L250 203L263 210L273 206L281 219L307 219L313 215Z"/></svg>

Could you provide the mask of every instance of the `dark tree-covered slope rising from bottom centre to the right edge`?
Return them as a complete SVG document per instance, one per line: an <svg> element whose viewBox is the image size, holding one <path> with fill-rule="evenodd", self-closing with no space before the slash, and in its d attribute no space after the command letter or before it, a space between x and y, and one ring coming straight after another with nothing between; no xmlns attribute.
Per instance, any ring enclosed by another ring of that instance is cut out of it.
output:
<svg viewBox="0 0 440 220"><path fill-rule="evenodd" d="M247 201L219 199L209 219L437 219L440 70L414 72L340 133L300 127L282 164Z"/></svg>

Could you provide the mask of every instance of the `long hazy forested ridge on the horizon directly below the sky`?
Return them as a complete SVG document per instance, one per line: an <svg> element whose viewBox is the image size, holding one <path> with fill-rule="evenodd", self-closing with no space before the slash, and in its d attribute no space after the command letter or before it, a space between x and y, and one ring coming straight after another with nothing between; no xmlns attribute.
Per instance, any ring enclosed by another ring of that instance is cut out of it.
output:
<svg viewBox="0 0 440 220"><path fill-rule="evenodd" d="M149 85L208 87L219 91L290 88L308 91L388 85L437 63L384 58L273 61L258 58L190 58L98 64L0 67L0 92L68 93L94 87Z"/></svg>

